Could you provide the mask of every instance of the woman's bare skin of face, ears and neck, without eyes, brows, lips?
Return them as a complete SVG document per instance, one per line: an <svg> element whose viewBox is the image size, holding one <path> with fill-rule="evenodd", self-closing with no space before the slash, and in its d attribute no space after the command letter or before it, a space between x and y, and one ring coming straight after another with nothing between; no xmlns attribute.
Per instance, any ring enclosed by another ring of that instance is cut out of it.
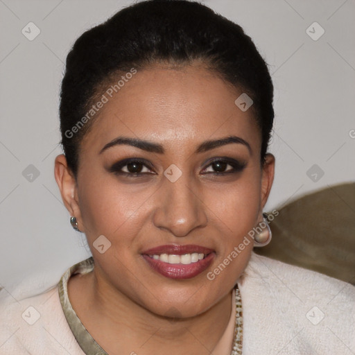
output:
<svg viewBox="0 0 355 355"><path fill-rule="evenodd" d="M242 112L234 104L241 93L200 64L138 71L105 103L85 136L77 181L64 155L56 157L62 199L85 232L95 262L93 272L71 277L69 299L109 354L210 354L225 331L232 288L248 264L252 243L213 281L207 272L262 220L275 169L270 154L260 165L261 135L252 110ZM195 153L202 141L230 135L248 141L251 152L243 144L227 144ZM99 153L119 136L162 144L165 153L128 145ZM108 170L131 157L146 159L153 168L143 166L138 177ZM210 160L218 157L246 166L214 175ZM182 171L176 182L163 174L171 164ZM111 242L103 254L92 246L101 235ZM141 256L173 243L213 249L211 266L176 280L152 270Z"/></svg>

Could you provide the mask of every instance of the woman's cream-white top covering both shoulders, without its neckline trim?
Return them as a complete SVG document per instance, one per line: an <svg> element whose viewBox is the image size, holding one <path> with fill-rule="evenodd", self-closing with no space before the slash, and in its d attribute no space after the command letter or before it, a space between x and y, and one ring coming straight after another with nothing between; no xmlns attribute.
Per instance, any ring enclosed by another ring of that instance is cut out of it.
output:
<svg viewBox="0 0 355 355"><path fill-rule="evenodd" d="M61 278L64 285L72 268ZM352 284L253 252L238 286L243 305L243 355L355 354ZM22 293L24 288L35 287L36 280L19 285ZM0 302L1 355L89 354L83 352L69 327L58 284L17 301L3 289ZM232 315L223 336L229 347Z"/></svg>

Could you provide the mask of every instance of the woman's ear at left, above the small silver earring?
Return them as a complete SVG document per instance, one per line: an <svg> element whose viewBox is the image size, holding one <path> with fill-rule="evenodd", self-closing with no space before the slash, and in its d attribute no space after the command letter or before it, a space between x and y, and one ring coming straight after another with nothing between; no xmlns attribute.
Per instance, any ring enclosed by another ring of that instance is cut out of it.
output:
<svg viewBox="0 0 355 355"><path fill-rule="evenodd" d="M78 229L81 232L85 232L79 208L76 178L69 168L64 154L60 154L55 157L54 177L60 189L60 194L62 195L65 207L67 207L67 210L71 216L76 217Z"/></svg>

